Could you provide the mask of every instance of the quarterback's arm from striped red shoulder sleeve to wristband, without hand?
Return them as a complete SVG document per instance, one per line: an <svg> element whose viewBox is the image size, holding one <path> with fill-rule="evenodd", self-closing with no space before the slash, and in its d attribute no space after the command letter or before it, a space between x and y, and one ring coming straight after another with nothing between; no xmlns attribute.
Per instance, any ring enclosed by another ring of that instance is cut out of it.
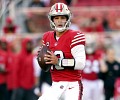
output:
<svg viewBox="0 0 120 100"><path fill-rule="evenodd" d="M71 67L74 70L82 70L85 67L85 35L80 32L71 34L71 54L73 59L62 59L59 63L62 67Z"/></svg>

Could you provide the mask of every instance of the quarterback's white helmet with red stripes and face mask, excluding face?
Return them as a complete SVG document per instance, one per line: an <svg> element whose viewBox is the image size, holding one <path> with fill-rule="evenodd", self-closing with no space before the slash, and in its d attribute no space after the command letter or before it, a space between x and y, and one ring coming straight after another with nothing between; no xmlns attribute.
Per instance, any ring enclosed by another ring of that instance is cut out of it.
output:
<svg viewBox="0 0 120 100"><path fill-rule="evenodd" d="M55 23L53 22L53 17L58 16L58 15L65 15L67 16L67 21L62 28L58 28L55 26ZM48 18L50 20L50 26L52 29L58 31L58 32L63 32L65 29L67 29L70 26L70 19L71 19L71 12L68 9L67 5L64 3L55 3L48 14Z"/></svg>

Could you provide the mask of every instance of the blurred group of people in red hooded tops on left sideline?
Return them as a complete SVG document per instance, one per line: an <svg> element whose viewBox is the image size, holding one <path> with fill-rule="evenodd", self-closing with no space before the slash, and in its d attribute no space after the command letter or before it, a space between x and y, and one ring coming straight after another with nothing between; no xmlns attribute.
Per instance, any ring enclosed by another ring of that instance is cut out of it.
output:
<svg viewBox="0 0 120 100"><path fill-rule="evenodd" d="M40 46L41 39L38 42ZM43 91L42 83L51 85L50 74L41 71L31 38L21 39L19 50L15 43L0 39L0 99L37 100Z"/></svg>

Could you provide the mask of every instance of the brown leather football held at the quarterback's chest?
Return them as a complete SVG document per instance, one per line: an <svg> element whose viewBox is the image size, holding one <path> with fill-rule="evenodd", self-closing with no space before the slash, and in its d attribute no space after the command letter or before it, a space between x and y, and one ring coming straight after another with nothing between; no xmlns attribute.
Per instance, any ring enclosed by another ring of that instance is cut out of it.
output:
<svg viewBox="0 0 120 100"><path fill-rule="evenodd" d="M38 51L38 55L37 55L38 64L40 68L45 72L48 72L52 66L51 64L45 64L44 55L47 54L47 51L50 51L50 49L47 46L43 45L40 48L40 51Z"/></svg>

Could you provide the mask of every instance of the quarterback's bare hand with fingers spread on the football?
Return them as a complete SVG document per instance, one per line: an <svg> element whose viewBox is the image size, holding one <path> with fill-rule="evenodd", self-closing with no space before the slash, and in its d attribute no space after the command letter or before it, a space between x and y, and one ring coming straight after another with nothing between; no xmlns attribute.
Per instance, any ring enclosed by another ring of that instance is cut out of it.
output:
<svg viewBox="0 0 120 100"><path fill-rule="evenodd" d="M45 54L44 60L46 64L53 64L56 65L58 63L57 56L52 51L47 51L48 54Z"/></svg>

